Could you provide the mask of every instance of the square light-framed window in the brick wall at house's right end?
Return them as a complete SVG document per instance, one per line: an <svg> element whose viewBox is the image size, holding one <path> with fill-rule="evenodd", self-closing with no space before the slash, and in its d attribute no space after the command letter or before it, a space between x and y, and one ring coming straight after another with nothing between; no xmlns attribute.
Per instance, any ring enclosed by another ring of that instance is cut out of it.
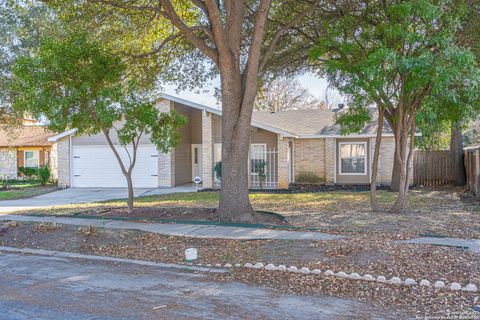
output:
<svg viewBox="0 0 480 320"><path fill-rule="evenodd" d="M340 142L340 174L367 174L367 143Z"/></svg>

